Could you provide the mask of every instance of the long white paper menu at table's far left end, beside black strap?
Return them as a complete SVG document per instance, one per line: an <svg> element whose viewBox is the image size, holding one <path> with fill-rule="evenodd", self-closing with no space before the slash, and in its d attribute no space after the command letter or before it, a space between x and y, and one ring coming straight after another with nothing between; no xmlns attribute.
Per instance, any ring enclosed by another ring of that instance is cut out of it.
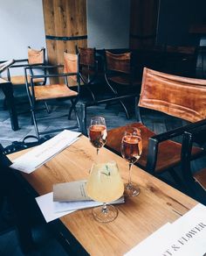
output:
<svg viewBox="0 0 206 256"><path fill-rule="evenodd" d="M48 160L51 160L55 155L64 150L75 142L80 132L72 132L65 130L58 133L52 139L45 141L42 145L36 146L28 153L24 153L13 161L11 168L22 171L26 174L31 174L38 167L42 166Z"/></svg>

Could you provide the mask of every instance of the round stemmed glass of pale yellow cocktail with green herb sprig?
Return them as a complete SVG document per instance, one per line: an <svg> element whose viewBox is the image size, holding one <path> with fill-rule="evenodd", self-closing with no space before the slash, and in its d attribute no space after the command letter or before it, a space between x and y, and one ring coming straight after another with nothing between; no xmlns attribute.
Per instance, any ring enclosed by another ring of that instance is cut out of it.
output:
<svg viewBox="0 0 206 256"><path fill-rule="evenodd" d="M106 205L120 198L124 192L119 169L115 161L93 163L89 179L86 183L86 194L103 206L93 208L93 217L101 223L113 221L118 210L113 205Z"/></svg>

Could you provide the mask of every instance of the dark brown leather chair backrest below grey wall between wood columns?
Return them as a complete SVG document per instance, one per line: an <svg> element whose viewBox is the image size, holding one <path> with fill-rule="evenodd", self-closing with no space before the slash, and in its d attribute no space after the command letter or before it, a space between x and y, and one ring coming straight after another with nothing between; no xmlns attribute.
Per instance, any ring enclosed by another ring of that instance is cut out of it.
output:
<svg viewBox="0 0 206 256"><path fill-rule="evenodd" d="M111 53L106 51L106 69L130 74L131 53Z"/></svg>

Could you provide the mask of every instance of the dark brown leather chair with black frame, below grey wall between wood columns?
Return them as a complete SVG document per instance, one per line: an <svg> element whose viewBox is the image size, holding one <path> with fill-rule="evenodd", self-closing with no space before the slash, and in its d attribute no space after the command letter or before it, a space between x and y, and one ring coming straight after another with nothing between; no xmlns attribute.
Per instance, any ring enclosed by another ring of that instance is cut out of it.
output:
<svg viewBox="0 0 206 256"><path fill-rule="evenodd" d="M141 81L135 77L132 66L131 53L111 53L105 51L105 79L113 96L123 96L141 89ZM126 104L119 100L123 110L129 118Z"/></svg>

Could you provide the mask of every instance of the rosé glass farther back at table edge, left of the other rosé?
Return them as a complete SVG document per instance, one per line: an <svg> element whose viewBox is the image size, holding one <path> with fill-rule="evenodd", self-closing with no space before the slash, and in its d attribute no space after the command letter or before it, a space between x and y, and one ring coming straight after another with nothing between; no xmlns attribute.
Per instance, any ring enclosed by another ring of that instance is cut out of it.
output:
<svg viewBox="0 0 206 256"><path fill-rule="evenodd" d="M97 149L97 155L102 146L106 144L107 132L106 121L104 117L92 117L89 127L89 139Z"/></svg>

